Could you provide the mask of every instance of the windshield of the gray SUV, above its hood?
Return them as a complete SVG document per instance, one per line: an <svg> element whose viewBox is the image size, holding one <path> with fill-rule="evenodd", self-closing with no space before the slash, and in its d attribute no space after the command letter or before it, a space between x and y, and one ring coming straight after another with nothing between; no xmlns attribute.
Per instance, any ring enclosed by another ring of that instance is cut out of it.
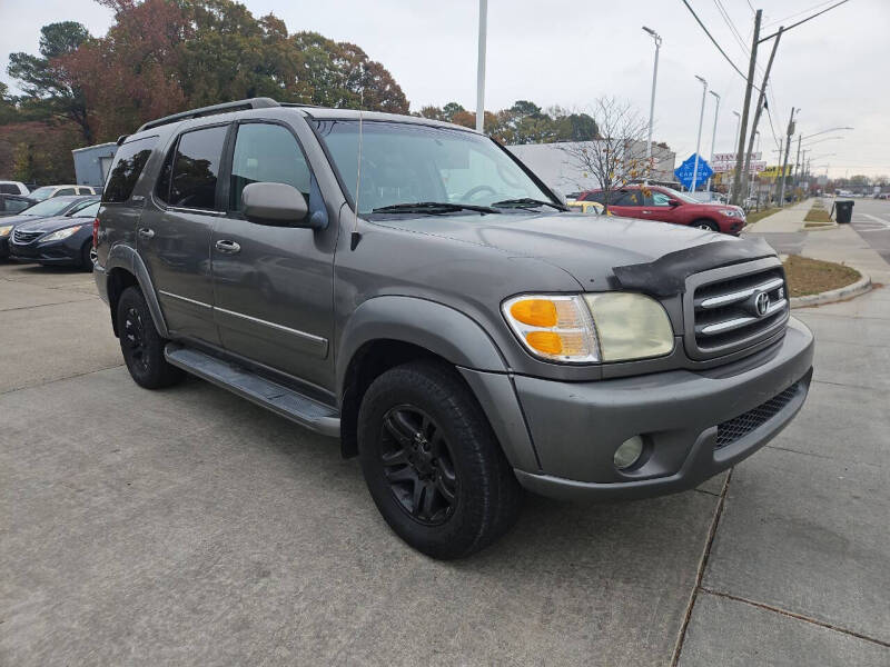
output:
<svg viewBox="0 0 890 667"><path fill-rule="evenodd" d="M417 202L491 207L514 199L553 201L491 139L407 122L362 123L358 182L358 125L357 120L317 121L318 133L344 186L357 200L359 213Z"/></svg>

